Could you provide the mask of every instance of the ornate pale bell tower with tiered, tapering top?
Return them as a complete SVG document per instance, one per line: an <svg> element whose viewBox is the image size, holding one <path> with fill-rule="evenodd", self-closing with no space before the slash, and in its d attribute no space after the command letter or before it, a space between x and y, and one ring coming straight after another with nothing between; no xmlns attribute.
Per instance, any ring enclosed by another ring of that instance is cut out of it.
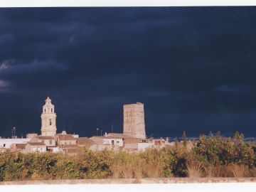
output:
<svg viewBox="0 0 256 192"><path fill-rule="evenodd" d="M41 134L43 136L54 136L56 134L56 116L54 105L51 103L50 98L47 97L41 114Z"/></svg>

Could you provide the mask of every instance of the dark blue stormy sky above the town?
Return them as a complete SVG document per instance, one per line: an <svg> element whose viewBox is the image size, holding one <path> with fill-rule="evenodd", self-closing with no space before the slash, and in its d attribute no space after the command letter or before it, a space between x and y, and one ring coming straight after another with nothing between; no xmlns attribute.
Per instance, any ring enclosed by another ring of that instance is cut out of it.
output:
<svg viewBox="0 0 256 192"><path fill-rule="evenodd" d="M0 9L0 136L122 132L143 102L146 134L256 134L256 7Z"/></svg>

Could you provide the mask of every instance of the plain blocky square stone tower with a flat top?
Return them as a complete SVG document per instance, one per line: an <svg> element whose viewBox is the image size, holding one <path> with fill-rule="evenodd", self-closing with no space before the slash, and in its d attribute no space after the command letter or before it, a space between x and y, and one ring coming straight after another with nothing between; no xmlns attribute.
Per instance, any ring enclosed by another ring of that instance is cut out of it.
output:
<svg viewBox="0 0 256 192"><path fill-rule="evenodd" d="M124 105L124 134L136 138L146 138L144 104Z"/></svg>

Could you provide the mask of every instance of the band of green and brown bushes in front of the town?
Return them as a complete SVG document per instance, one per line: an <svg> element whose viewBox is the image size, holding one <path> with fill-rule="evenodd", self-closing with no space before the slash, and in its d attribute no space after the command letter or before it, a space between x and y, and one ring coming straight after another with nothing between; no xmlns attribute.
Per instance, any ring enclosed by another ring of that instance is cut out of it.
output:
<svg viewBox="0 0 256 192"><path fill-rule="evenodd" d="M186 136L186 134L183 134ZM185 137L184 137L185 138ZM157 178L198 176L256 176L256 144L220 133L199 137L191 151L178 143L143 152L90 151L53 154L0 154L0 181ZM184 142L184 139L183 139Z"/></svg>

